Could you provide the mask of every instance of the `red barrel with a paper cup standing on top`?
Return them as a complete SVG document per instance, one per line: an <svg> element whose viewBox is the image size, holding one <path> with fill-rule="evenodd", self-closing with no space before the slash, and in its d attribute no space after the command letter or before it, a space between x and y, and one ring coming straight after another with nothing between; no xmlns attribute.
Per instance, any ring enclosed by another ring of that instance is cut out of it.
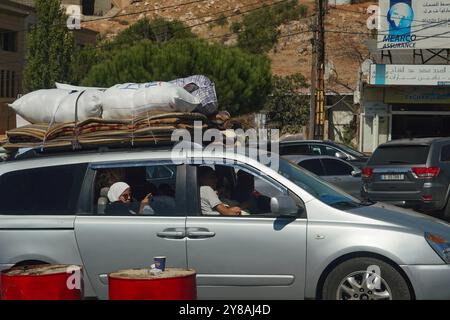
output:
<svg viewBox="0 0 450 320"><path fill-rule="evenodd" d="M128 269L109 274L110 300L195 300L195 271L166 268L159 274L150 269Z"/></svg>

